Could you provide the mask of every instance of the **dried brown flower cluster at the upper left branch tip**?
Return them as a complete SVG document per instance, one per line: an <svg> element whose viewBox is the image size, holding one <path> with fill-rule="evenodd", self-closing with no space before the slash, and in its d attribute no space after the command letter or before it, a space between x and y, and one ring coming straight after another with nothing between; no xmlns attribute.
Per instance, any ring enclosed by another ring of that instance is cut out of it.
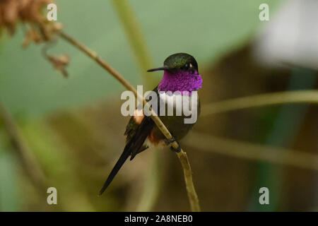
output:
<svg viewBox="0 0 318 226"><path fill-rule="evenodd" d="M46 42L43 47L45 59L49 61L54 69L60 71L67 77L66 66L69 65L69 57L66 54L52 56L47 54L47 47L54 43L53 35L61 30L61 23L47 20L44 9L53 0L0 0L0 34L7 30L14 35L16 25L23 23L28 30L25 32L23 47L28 47L31 42L35 44Z"/></svg>

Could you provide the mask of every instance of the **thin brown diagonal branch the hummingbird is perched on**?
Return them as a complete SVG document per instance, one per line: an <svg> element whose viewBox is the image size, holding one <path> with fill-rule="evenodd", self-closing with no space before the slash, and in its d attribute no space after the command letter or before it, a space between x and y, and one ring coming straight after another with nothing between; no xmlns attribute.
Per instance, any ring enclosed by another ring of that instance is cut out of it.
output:
<svg viewBox="0 0 318 226"><path fill-rule="evenodd" d="M77 47L82 52L84 52L88 57L90 57L91 59L96 61L100 66L102 66L103 69L108 71L114 78L116 78L117 81L119 81L119 83L122 83L122 85L124 85L124 87L127 90L131 90L131 92L133 92L134 95L140 101L142 101L144 105L146 105L148 107L148 102L146 102L146 100L144 100L143 97L141 95L139 95L139 93L137 93L137 90L128 81L126 81L126 79L124 77L122 77L122 75L118 71L116 71L114 68L112 68L112 66L110 66L110 64L107 64L106 61L104 61L100 57L98 57L98 54L96 54L96 52L94 52L91 49L88 49L88 47L84 46L83 44L78 42L73 37L67 35L63 31L59 31L59 35L67 42L73 44L74 47ZM151 109L151 113L152 113L151 118L155 122L156 126L158 126L158 129L160 129L160 131L163 133L163 135L165 135L165 137L167 139L171 140L172 135L171 135L170 131L167 130L167 128L165 127L163 122L160 120L158 115L155 114L153 109ZM176 141L173 142L171 145L175 149L179 148L179 144ZM191 209L192 209L192 211L200 211L201 208L199 205L199 198L198 198L196 191L194 189L194 184L193 184L193 180L192 180L192 170L191 170L191 167L189 165L187 153L184 153L184 151L181 150L179 153L177 153L177 157L179 158L179 161L182 165L182 169L184 172L184 180L185 180L186 187L187 187L187 193L188 193Z"/></svg>

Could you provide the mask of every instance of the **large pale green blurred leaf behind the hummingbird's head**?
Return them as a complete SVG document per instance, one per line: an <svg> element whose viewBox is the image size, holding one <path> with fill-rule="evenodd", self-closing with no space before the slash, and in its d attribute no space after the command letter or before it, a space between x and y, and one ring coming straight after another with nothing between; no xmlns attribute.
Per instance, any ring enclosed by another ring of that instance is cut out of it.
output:
<svg viewBox="0 0 318 226"><path fill-rule="evenodd" d="M175 52L192 53L201 68L246 42L260 25L261 0L131 1L155 64ZM266 1L271 11L279 1ZM69 34L118 69L140 81L131 49L110 1L57 1L59 22ZM23 29L0 49L0 96L13 112L38 115L114 97L121 85L86 56L60 40L49 53L71 56L65 80L43 59L40 47L21 50ZM153 76L153 75L149 75ZM119 101L117 96L115 100Z"/></svg>

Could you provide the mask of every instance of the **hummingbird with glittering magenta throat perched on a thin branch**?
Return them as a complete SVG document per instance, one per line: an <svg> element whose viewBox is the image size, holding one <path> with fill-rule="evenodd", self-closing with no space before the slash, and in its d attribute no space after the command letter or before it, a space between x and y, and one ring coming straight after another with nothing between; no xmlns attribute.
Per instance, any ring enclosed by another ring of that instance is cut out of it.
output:
<svg viewBox="0 0 318 226"><path fill-rule="evenodd" d="M202 86L202 78L199 74L198 64L194 57L186 53L177 53L172 54L167 59L165 59L163 66L150 69L151 71L163 71L163 78L160 81L159 85L153 89L153 91L158 95L160 100L165 102L165 105L173 105L175 108L175 103L173 102L173 97L176 91L179 91L177 95L192 95L193 91L199 90ZM170 91L172 95L166 95ZM172 102L170 101L172 100ZM184 104L184 103L183 103ZM199 96L197 97L196 106L194 109L196 114L199 117L200 114L200 101ZM138 111L137 109L135 110ZM126 136L126 145L122 155L120 155L119 160L114 165L114 168L110 172L109 176L106 179L105 184L100 190L100 195L107 189L114 177L116 176L119 169L124 165L124 162L130 156L130 160L133 160L134 157L141 153L143 150L146 150L153 145L169 145L174 141L179 141L187 135L190 129L194 126L194 123L185 124L184 119L186 116L184 114L177 116L159 115L163 124L172 134L172 139L167 140L163 133L155 125L153 119L150 116L145 114L134 114L129 119L129 123L126 126L126 131L124 135ZM171 150L179 152L181 148L170 147Z"/></svg>

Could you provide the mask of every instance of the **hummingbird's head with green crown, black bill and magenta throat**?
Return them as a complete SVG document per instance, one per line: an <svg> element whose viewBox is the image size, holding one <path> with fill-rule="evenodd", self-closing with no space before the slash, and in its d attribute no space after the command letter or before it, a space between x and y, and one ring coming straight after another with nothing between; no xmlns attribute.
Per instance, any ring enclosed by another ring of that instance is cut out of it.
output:
<svg viewBox="0 0 318 226"><path fill-rule="evenodd" d="M188 91L199 90L202 78L199 75L198 63L189 54L172 54L165 59L163 66L148 71L164 71L163 79L158 85L160 91Z"/></svg>

